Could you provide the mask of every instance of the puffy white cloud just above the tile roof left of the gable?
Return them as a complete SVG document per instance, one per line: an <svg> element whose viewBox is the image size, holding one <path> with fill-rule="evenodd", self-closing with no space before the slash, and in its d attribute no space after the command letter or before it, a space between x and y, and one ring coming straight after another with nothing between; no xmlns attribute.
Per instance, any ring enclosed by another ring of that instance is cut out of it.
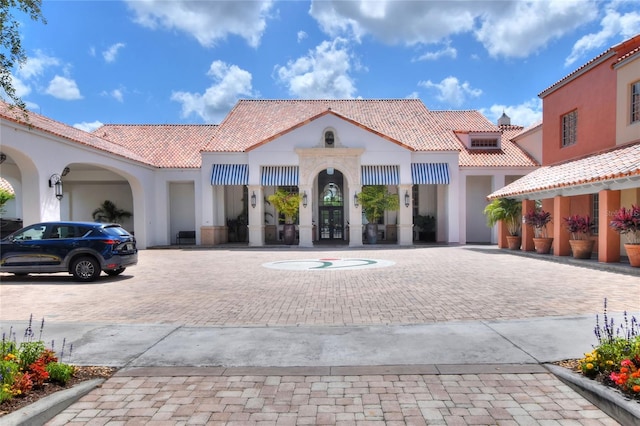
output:
<svg viewBox="0 0 640 426"><path fill-rule="evenodd" d="M207 123L219 123L241 96L253 97L251 73L222 61L214 61L207 72L215 84L204 94L173 92L171 100L182 104L182 116L192 113Z"/></svg>

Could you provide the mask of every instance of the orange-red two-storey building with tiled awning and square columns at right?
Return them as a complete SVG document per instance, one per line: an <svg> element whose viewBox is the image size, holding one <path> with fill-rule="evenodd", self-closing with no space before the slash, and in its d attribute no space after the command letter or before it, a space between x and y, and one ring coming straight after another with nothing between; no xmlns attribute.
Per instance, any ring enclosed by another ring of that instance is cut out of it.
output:
<svg viewBox="0 0 640 426"><path fill-rule="evenodd" d="M489 199L542 204L553 218L553 254L570 254L563 218L595 219L594 252L620 262L624 246L609 226L621 206L640 205L640 35L615 45L539 95L543 102L542 167ZM504 230L499 245L504 246ZM533 250L523 229L522 249Z"/></svg>

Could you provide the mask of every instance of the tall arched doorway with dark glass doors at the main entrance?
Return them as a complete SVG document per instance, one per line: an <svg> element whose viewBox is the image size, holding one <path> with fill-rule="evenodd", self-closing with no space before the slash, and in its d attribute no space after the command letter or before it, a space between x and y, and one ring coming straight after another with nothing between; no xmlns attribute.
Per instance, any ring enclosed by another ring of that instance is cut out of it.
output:
<svg viewBox="0 0 640 426"><path fill-rule="evenodd" d="M338 170L328 168L318 175L318 214L320 241L344 240L344 179Z"/></svg>

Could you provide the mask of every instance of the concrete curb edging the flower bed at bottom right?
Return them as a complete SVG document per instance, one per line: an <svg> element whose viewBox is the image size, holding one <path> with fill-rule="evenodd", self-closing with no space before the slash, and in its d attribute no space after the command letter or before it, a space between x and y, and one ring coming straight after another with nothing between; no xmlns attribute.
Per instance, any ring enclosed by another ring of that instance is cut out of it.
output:
<svg viewBox="0 0 640 426"><path fill-rule="evenodd" d="M618 423L634 425L640 423L640 403L625 397L614 388L574 373L564 367L553 364L544 366L560 381L578 392L583 398L604 411Z"/></svg>

